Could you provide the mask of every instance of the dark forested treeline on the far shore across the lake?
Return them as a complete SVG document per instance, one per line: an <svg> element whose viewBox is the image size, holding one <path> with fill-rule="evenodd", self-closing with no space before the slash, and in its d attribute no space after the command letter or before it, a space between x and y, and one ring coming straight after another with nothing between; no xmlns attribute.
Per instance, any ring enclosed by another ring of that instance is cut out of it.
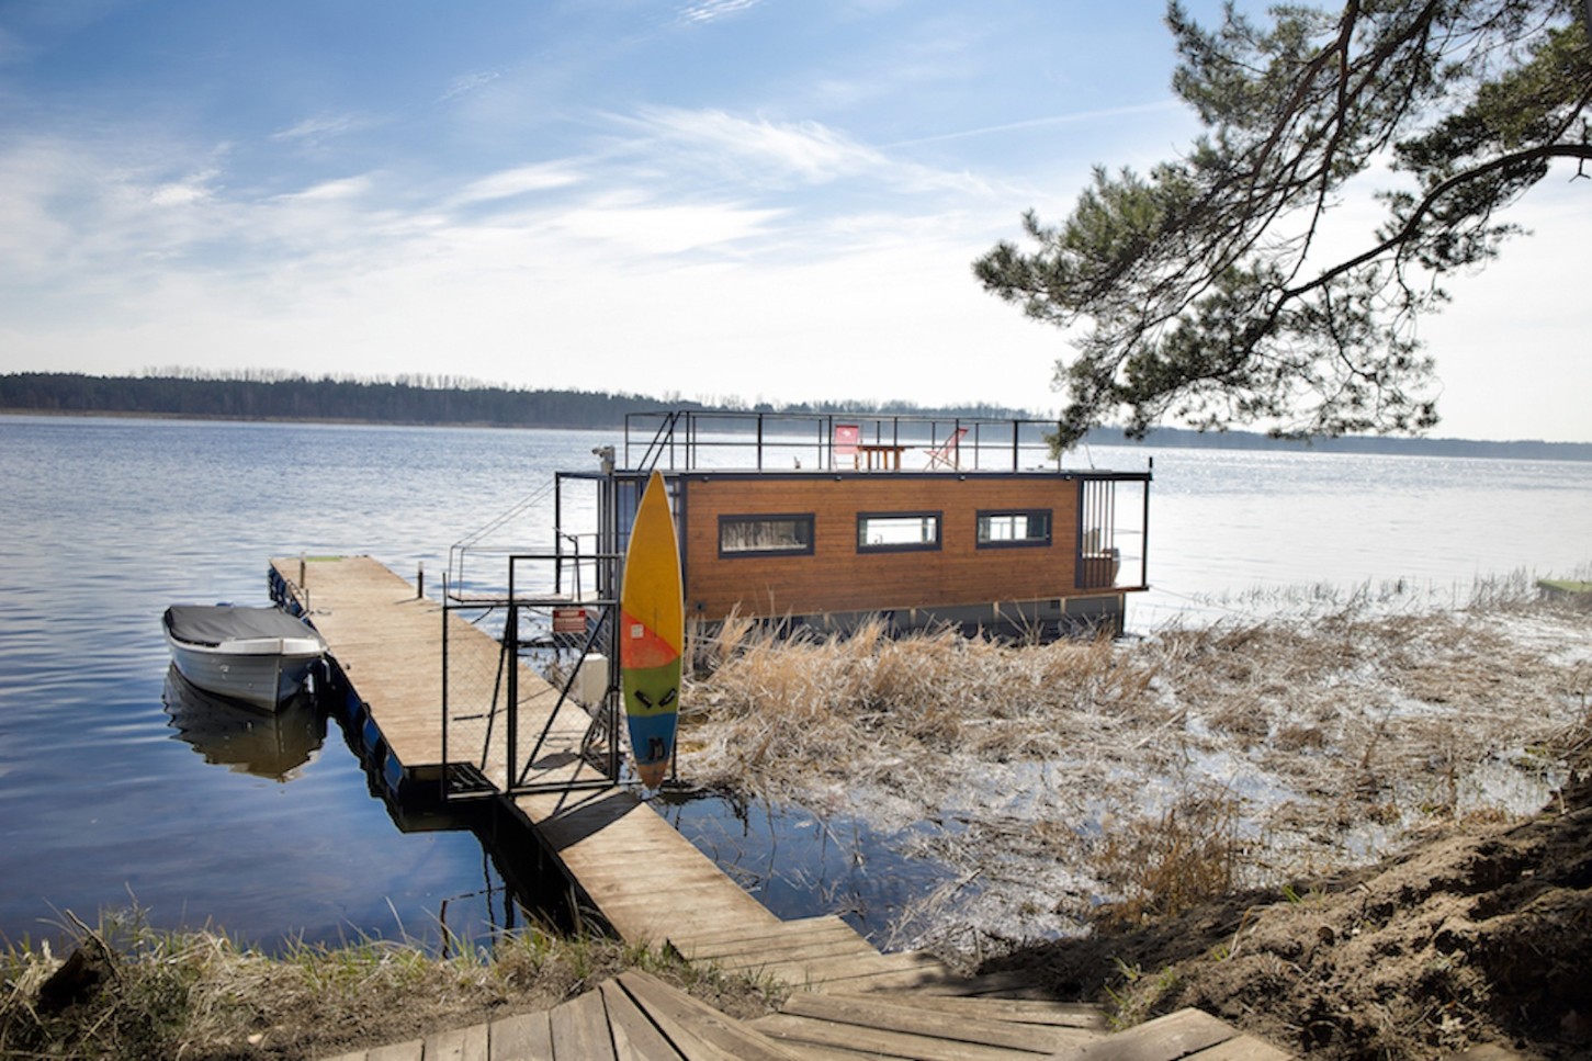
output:
<svg viewBox="0 0 1592 1061"><path fill-rule="evenodd" d="M0 374L0 414L132 416L314 424L392 424L406 427L616 429L630 413L712 409L823 416L829 413L995 419L1048 419L1049 413L990 405L925 408L909 401L745 401L736 395L683 398L548 390L484 384L452 376L309 378L283 371L204 373L151 370L142 376L83 373ZM1118 429L1095 429L1079 443L1132 446ZM1492 457L1514 460L1592 460L1592 443L1539 440L1342 437L1290 441L1258 432L1196 432L1157 427L1145 444L1205 449L1312 449L1393 456Z"/></svg>

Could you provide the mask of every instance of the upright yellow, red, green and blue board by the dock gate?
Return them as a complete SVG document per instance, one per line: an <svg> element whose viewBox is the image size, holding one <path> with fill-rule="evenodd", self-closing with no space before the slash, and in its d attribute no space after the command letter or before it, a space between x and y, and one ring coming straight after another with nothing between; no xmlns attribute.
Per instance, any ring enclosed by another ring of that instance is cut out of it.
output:
<svg viewBox="0 0 1592 1061"><path fill-rule="evenodd" d="M630 527L619 591L619 688L635 771L648 789L662 784L675 752L685 624L669 489L653 472Z"/></svg>

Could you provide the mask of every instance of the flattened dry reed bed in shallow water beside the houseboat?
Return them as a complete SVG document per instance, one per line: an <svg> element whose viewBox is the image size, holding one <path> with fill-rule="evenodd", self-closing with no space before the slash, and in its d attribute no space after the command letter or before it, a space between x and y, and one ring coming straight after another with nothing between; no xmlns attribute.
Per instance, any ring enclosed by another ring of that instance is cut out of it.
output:
<svg viewBox="0 0 1592 1061"><path fill-rule="evenodd" d="M903 843L954 883L893 911L888 942L977 957L1536 809L1587 725L1589 618L1512 580L1457 609L1315 591L1122 642L732 620L693 645L681 773L941 825Z"/></svg>

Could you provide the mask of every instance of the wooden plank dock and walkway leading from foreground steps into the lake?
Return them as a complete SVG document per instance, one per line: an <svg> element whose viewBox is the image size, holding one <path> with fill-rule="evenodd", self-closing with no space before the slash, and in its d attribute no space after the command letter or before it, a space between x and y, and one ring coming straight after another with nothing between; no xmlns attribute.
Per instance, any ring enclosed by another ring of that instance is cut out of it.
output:
<svg viewBox="0 0 1592 1061"><path fill-rule="evenodd" d="M380 773L439 781L443 607L361 556L275 559L279 596L304 607L350 688L350 718L382 758ZM495 674L498 644L447 617L452 666ZM530 749L557 693L513 661L521 688L517 741ZM537 779L600 777L579 757L583 712L565 707L533 763ZM487 733L476 720L476 733ZM447 758L474 765L501 793L511 765L501 720L492 741L449 734ZM931 954L880 954L834 916L780 921L646 803L619 787L497 797L556 857L584 908L632 943L793 986L778 1013L740 1023L645 973L626 973L548 1013L438 1032L345 1055L360 1061L500 1058L1091 1058L1267 1061L1286 1056L1213 1016L1186 1010L1105 1036L1092 1007L1030 997L1014 977L966 978Z"/></svg>

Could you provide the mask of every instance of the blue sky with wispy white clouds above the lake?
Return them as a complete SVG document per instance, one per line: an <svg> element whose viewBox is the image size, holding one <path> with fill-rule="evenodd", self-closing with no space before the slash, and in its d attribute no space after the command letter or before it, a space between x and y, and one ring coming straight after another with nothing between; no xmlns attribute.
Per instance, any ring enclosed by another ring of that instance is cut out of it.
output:
<svg viewBox="0 0 1592 1061"><path fill-rule="evenodd" d="M1162 13L0 0L0 371L1049 414L1067 336L971 263L1188 145ZM1434 435L1592 441L1570 177L1423 323Z"/></svg>

